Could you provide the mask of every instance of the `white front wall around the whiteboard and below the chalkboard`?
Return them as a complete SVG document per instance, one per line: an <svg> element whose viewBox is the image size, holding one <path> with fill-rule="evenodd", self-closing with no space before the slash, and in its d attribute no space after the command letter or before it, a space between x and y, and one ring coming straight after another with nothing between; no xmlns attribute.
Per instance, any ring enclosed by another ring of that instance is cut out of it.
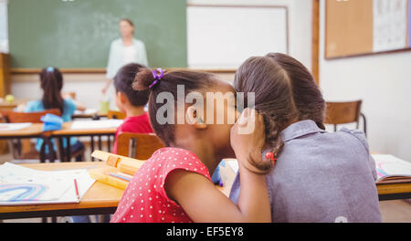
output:
<svg viewBox="0 0 411 241"><path fill-rule="evenodd" d="M298 2L298 5L296 4ZM203 5L287 5L290 18L290 55L311 68L311 0L188 0L187 4ZM234 74L219 74L221 79L234 80ZM104 74L64 74L64 91L75 91L79 101L89 108L99 108ZM12 93L17 99L41 97L37 74L13 74ZM111 106L114 107L111 101Z"/></svg>

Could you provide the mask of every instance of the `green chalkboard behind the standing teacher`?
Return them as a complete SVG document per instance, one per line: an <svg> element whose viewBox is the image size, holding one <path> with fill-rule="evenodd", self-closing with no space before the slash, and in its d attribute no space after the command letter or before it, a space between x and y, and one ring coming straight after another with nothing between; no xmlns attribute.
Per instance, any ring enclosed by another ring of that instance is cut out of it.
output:
<svg viewBox="0 0 411 241"><path fill-rule="evenodd" d="M130 18L151 67L187 66L185 0L12 0L12 68L106 68L119 20Z"/></svg>

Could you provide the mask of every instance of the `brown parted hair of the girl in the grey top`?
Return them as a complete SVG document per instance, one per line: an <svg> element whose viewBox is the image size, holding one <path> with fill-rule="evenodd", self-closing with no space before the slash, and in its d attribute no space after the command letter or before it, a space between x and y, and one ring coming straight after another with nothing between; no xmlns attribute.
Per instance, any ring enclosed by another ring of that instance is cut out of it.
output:
<svg viewBox="0 0 411 241"><path fill-rule="evenodd" d="M237 92L255 93L255 108L264 117L266 144L274 159L279 158L284 147L280 132L290 123L312 120L325 129L321 90L308 69L295 58L279 53L248 58L238 68L234 86ZM268 170L264 166L258 169Z"/></svg>

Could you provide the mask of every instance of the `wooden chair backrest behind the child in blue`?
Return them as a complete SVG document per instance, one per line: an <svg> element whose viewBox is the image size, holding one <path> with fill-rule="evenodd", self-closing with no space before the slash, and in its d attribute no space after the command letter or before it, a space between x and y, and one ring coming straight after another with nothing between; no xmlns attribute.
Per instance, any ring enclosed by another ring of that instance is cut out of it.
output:
<svg viewBox="0 0 411 241"><path fill-rule="evenodd" d="M61 112L58 109L50 109L37 112L16 112L16 111L2 111L3 116L9 123L21 123L21 122L32 122L32 123L42 123L40 118L46 114L55 114L61 116Z"/></svg>

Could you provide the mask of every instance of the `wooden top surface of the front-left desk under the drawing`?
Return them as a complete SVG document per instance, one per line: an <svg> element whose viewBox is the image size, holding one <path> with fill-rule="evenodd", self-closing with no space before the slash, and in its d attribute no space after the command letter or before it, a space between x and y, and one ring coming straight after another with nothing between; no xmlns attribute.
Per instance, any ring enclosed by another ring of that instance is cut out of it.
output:
<svg viewBox="0 0 411 241"><path fill-rule="evenodd" d="M30 163L22 166L43 171L57 171L69 169L90 169L101 167L104 162L55 162ZM67 209L85 209L101 207L117 207L124 190L114 186L95 182L84 194L79 204L31 204L31 205L1 205L1 213L36 212Z"/></svg>

